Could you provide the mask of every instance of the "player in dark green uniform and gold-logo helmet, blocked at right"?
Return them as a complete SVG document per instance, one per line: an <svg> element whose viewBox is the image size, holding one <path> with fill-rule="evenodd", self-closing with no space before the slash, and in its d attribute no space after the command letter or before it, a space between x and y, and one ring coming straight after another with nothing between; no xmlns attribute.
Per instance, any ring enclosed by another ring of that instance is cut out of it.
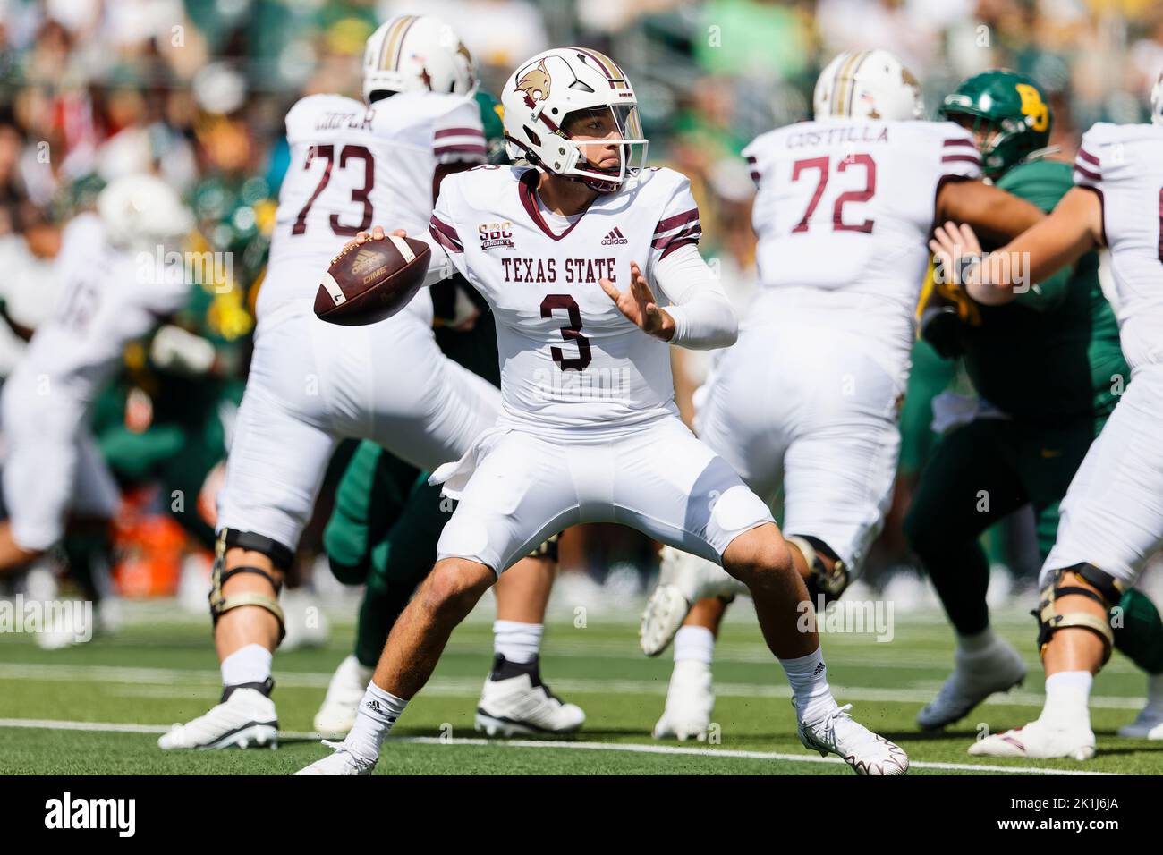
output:
<svg viewBox="0 0 1163 855"><path fill-rule="evenodd" d="M976 74L946 97L941 114L973 134L996 186L1047 212L1070 190L1070 164L1046 159L1054 116L1030 78ZM990 628L990 568L978 537L1030 503L1046 560L1058 504L1130 378L1099 285L1097 251L1001 306L969 304L949 287L964 311L947 305L923 313L922 335L943 355L964 359L979 400L976 416L937 443L905 520L957 637L952 675L916 717L923 729L961 719L1025 677L1021 656ZM1163 674L1158 612L1135 590L1123 592L1120 605L1125 620L1115 647L1150 674Z"/></svg>

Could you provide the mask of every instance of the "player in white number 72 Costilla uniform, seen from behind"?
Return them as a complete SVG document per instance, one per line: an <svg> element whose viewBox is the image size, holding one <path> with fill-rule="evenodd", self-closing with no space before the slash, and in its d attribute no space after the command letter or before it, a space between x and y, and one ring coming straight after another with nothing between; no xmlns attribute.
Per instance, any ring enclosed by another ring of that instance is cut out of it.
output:
<svg viewBox="0 0 1163 855"><path fill-rule="evenodd" d="M766 501L783 486L792 561L819 607L859 572L892 499L933 223L957 212L1005 240L1043 214L978 180L969 131L920 121L916 79L886 51L833 59L814 109L814 121L744 150L758 185L762 293L700 396L695 427ZM642 626L648 654L675 637L655 735L698 736L725 605L687 611L729 593L729 580L693 555L665 556L664 570Z"/></svg>

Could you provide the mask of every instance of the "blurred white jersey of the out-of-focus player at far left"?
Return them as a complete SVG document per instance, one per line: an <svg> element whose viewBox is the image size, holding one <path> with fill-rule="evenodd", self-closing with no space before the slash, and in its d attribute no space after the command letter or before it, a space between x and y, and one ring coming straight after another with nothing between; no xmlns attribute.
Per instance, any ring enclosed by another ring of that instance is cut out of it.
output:
<svg viewBox="0 0 1163 855"><path fill-rule="evenodd" d="M38 394L63 393L81 404L116 371L126 345L178 311L190 293L180 264L109 245L92 213L65 227L56 279L56 308L36 328L9 383L30 383Z"/></svg>

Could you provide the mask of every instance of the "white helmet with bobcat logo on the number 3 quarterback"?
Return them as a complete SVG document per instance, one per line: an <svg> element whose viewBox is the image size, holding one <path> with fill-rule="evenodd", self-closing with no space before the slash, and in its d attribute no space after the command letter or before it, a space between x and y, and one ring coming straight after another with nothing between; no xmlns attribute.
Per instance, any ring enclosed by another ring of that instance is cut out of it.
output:
<svg viewBox="0 0 1163 855"><path fill-rule="evenodd" d="M508 155L514 161L525 159L602 193L616 190L645 163L637 97L626 72L605 54L555 48L530 57L509 76L501 106ZM566 134L566 120L578 112L601 114L616 128L616 136L600 140L602 145L619 147L616 166L599 169L586 159L587 143Z"/></svg>

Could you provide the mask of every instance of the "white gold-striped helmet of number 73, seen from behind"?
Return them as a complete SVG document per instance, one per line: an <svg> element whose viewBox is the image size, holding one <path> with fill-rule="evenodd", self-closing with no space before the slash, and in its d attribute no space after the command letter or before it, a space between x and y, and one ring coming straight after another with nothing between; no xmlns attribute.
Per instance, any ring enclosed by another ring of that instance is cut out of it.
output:
<svg viewBox="0 0 1163 855"><path fill-rule="evenodd" d="M431 91L471 95L472 55L456 31L433 15L398 15L368 38L364 100L373 92Z"/></svg>

